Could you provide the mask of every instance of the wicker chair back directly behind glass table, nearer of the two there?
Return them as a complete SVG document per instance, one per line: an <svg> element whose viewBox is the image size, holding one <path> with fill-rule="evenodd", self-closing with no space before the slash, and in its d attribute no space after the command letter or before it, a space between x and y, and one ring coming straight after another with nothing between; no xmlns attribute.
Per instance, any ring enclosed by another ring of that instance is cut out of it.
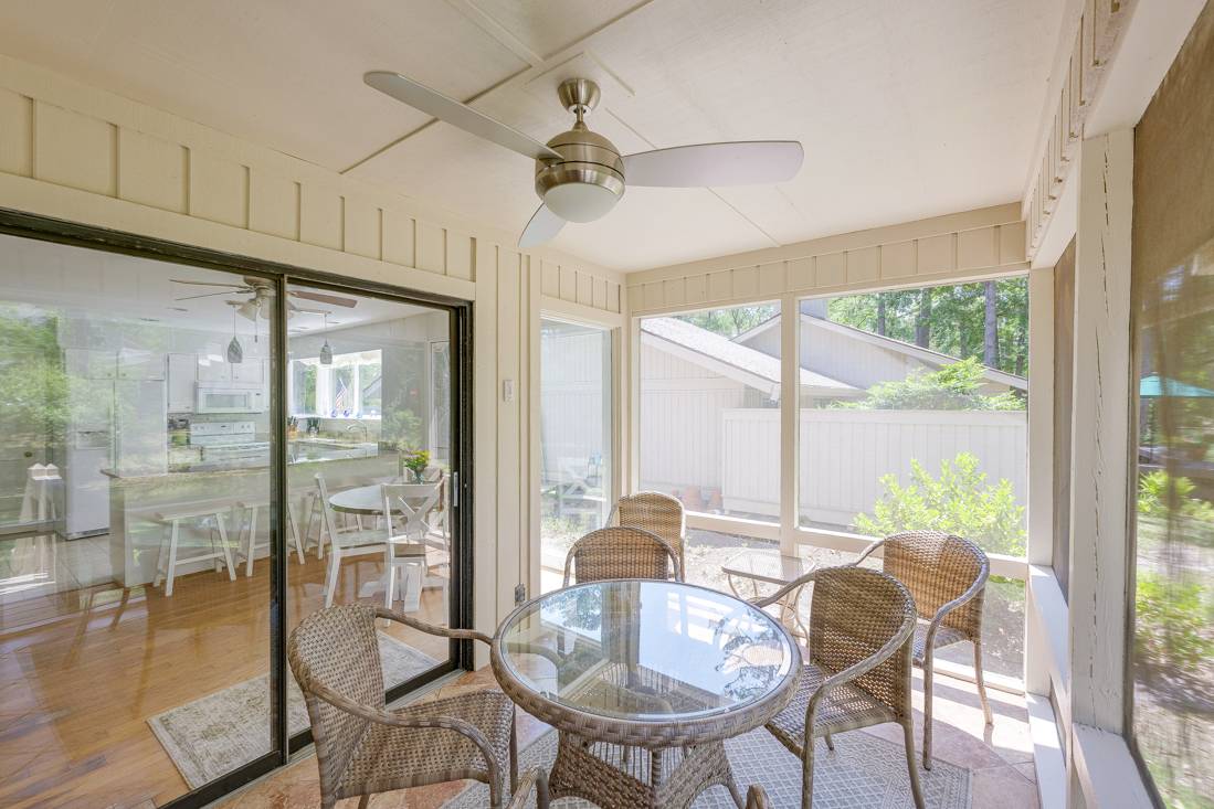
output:
<svg viewBox="0 0 1214 809"><path fill-rule="evenodd" d="M639 528L601 528L573 543L565 557L565 582L577 571L578 583L605 579L675 579L682 568L670 543Z"/></svg>

